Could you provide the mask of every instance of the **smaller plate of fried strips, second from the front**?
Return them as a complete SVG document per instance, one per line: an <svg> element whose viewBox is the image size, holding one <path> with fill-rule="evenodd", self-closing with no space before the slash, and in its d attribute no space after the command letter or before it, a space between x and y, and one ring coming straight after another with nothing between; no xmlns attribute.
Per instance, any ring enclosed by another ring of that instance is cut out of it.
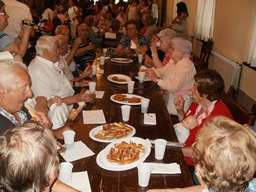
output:
<svg viewBox="0 0 256 192"><path fill-rule="evenodd" d="M111 143L112 141L122 139L124 137L132 137L136 133L133 126L119 123L106 123L102 126L94 127L89 132L89 137L95 141Z"/></svg>

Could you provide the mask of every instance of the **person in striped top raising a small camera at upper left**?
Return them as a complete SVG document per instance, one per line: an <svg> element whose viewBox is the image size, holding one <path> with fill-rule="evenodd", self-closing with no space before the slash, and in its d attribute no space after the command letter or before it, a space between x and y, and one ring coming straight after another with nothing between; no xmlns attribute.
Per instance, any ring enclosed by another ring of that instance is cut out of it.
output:
<svg viewBox="0 0 256 192"><path fill-rule="evenodd" d="M8 25L9 15L5 12L5 3L0 1L0 52L9 51L24 56L27 51L28 39L30 37L31 26L23 24L20 35L14 39L9 37L3 30ZM24 22L31 23L31 20L25 19ZM18 44L15 43L20 41Z"/></svg>

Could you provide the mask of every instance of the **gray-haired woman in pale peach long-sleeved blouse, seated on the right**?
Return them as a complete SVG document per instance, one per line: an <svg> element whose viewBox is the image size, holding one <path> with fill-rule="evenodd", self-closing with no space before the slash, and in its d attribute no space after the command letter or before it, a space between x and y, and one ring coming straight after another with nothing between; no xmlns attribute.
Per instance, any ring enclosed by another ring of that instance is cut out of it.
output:
<svg viewBox="0 0 256 192"><path fill-rule="evenodd" d="M164 94L169 114L177 115L174 106L174 99L181 95L185 101L185 109L192 103L191 88L193 87L193 76L196 69L189 57L192 51L192 44L188 40L175 37L171 40L172 48L170 51L171 60L162 68L148 68L146 75L163 89L167 90ZM153 53L152 53L153 54ZM154 59L154 57L153 57Z"/></svg>

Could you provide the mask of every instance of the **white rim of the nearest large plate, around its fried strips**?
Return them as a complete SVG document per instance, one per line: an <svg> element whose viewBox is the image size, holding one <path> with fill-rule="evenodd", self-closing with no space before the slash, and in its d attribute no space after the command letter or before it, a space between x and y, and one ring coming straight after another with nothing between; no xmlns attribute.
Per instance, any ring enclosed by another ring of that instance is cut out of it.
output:
<svg viewBox="0 0 256 192"><path fill-rule="evenodd" d="M139 159L135 162L132 162L131 164L125 164L125 165L119 165L116 162L110 162L107 159L107 155L110 151L110 148L114 147L114 144L121 143L122 141L126 141L126 143L130 143L130 140L134 141L134 143L142 144L145 148L144 153L140 153ZM146 140L140 138L140 137L131 137L131 138L125 138L125 139L119 139L114 141L113 143L109 144L105 149L103 149L100 153L98 153L96 162L98 166L100 166L103 169L106 170L113 170L113 171L120 171L120 170L128 170L135 168L138 164L141 162L144 162L148 155L150 155L151 147L150 144L147 143Z"/></svg>

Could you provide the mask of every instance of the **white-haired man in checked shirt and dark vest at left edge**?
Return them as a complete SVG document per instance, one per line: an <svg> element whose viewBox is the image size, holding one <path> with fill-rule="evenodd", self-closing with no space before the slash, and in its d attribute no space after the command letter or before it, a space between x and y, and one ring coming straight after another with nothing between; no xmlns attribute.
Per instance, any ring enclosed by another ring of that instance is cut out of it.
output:
<svg viewBox="0 0 256 192"><path fill-rule="evenodd" d="M32 97L30 84L26 65L13 59L0 60L0 135L9 128L32 119L28 109L24 107L27 99ZM40 124L45 128L51 127L52 123L44 112L35 113L39 116ZM57 138L63 139L62 132L65 130L71 128L62 127L52 131Z"/></svg>

